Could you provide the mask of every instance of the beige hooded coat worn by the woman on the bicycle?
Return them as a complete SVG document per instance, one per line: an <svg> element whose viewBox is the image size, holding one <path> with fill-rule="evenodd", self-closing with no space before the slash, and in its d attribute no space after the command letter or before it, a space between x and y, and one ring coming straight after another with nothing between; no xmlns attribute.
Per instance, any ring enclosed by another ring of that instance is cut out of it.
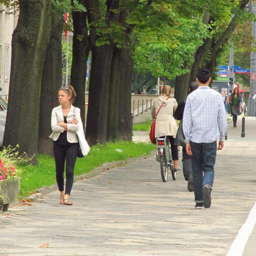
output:
<svg viewBox="0 0 256 256"><path fill-rule="evenodd" d="M167 100L166 98L167 96L164 95L154 99L151 110L153 120L159 107L162 105L162 103L164 103L157 114L155 138L158 137L158 133L160 132L164 132L166 135L173 136L175 138L178 130L177 123L173 118L173 111L177 109L178 103L174 98L169 98Z"/></svg>

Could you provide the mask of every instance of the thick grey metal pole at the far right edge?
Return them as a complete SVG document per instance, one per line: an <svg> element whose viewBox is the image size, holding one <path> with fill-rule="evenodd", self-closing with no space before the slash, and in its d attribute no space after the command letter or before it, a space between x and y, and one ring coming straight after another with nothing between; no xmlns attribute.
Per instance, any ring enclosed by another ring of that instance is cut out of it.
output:
<svg viewBox="0 0 256 256"><path fill-rule="evenodd" d="M256 16L256 4L253 1L252 4L249 5L249 12L253 13ZM256 22L252 21L252 37L256 38ZM252 48L255 47L254 41L252 42ZM251 68L250 68L250 96L248 100L248 110L247 116L255 116L255 102L253 100L253 95L255 95L255 69L256 69L256 54L255 52L251 52Z"/></svg>

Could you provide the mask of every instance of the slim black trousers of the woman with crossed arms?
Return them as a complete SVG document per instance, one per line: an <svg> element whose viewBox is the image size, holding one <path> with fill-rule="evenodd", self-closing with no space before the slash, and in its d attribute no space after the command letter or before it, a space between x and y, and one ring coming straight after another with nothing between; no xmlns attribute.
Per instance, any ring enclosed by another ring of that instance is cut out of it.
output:
<svg viewBox="0 0 256 256"><path fill-rule="evenodd" d="M78 143L69 145L58 145L54 143L53 152L56 165L56 181L59 191L64 191L64 165L66 160L65 194L70 195L74 183L74 167L78 154Z"/></svg>

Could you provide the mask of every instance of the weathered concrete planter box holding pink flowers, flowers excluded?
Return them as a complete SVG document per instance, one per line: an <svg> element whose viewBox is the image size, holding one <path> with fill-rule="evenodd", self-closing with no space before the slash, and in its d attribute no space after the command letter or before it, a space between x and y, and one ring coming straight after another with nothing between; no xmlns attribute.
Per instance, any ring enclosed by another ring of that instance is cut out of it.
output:
<svg viewBox="0 0 256 256"><path fill-rule="evenodd" d="M9 204L16 201L20 190L20 178L0 180L0 212L8 211Z"/></svg>

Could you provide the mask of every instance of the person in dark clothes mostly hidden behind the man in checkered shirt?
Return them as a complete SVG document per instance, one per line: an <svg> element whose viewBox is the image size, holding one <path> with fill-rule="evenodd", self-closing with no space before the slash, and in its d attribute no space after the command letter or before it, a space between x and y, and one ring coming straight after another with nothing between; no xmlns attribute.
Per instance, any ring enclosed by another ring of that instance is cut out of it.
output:
<svg viewBox="0 0 256 256"><path fill-rule="evenodd" d="M189 93L195 91L198 88L198 82L190 83L188 88ZM175 111L175 117L177 120L181 120L185 109L186 99L181 100L178 103L178 107ZM181 124L181 123L180 123ZM175 144L175 143L174 143ZM182 146L182 145L180 145ZM185 180L188 182L188 191L193 192L193 175L192 175L192 165L191 165L191 156L187 154L186 147L182 147L182 164L183 164L183 175Z"/></svg>

